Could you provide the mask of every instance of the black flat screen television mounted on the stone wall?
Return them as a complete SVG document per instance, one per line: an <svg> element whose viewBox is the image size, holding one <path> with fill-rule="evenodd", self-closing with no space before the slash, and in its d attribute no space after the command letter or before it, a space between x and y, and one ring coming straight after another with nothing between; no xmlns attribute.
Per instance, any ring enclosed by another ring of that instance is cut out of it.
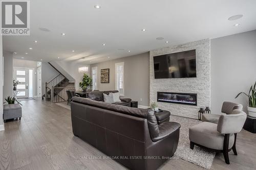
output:
<svg viewBox="0 0 256 170"><path fill-rule="evenodd" d="M197 77L196 50L154 57L155 79Z"/></svg>

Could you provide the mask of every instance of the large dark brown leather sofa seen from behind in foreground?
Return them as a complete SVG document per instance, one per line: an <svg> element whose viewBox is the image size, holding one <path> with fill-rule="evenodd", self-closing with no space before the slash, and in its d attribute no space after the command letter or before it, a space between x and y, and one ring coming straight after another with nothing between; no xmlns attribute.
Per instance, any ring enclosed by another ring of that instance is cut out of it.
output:
<svg viewBox="0 0 256 170"><path fill-rule="evenodd" d="M154 111L73 97L75 136L92 144L130 169L157 169L172 157L180 124L157 124Z"/></svg>

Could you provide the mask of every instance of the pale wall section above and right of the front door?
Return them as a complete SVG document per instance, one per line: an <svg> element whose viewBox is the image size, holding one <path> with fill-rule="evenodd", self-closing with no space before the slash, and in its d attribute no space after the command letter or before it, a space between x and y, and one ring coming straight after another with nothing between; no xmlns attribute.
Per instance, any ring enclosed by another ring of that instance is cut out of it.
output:
<svg viewBox="0 0 256 170"><path fill-rule="evenodd" d="M29 60L18 60L13 59L13 67L19 68L33 68L33 96L37 95L37 75L35 72L37 71L37 62L36 61L29 61Z"/></svg>

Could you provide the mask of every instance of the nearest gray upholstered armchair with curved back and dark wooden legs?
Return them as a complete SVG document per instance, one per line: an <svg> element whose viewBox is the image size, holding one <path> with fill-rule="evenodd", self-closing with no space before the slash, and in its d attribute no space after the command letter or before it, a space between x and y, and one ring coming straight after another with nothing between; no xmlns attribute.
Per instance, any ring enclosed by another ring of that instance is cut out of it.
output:
<svg viewBox="0 0 256 170"><path fill-rule="evenodd" d="M245 112L236 109L231 114L220 115L218 124L202 122L190 127L190 149L194 149L196 144L201 148L222 152L225 162L229 164L228 152L233 150L234 155L237 155L237 133L242 130L246 116Z"/></svg>

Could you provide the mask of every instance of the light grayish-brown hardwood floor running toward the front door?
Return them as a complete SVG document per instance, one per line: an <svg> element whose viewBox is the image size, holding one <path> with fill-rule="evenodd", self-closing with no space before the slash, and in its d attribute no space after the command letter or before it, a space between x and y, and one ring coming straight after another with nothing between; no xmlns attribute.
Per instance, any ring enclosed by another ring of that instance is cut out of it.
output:
<svg viewBox="0 0 256 170"><path fill-rule="evenodd" d="M0 132L0 169L126 169L90 144L74 137L70 110L50 102L22 101L22 120L7 122ZM230 165L217 154L211 169L256 169L256 135L238 134L238 156ZM80 157L79 157L80 156ZM159 169L203 169L181 159L170 159Z"/></svg>

